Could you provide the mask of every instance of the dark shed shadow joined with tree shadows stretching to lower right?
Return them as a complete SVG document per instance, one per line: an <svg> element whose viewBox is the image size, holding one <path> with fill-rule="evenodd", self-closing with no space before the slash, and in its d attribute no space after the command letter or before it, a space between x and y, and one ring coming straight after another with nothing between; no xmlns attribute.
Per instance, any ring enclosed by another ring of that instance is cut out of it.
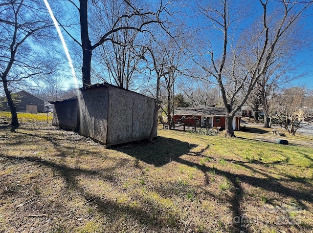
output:
<svg viewBox="0 0 313 233"><path fill-rule="evenodd" d="M256 130L257 132L265 133L265 130ZM263 132L264 131L264 132ZM190 151L192 148L196 147L197 145L188 144L186 142L181 142L179 140L165 138L165 137L158 137L159 140L155 144L131 144L122 147L116 147L115 149L121 152L124 152L134 158L141 160L148 164L153 164L156 167L160 167L166 165L171 161L176 161L180 164L187 165L192 168L200 169L204 176L208 172L212 170L212 168L206 167L199 163L191 162L189 160L185 160L181 158L181 155L187 154L191 156L203 156L201 152L193 152ZM254 141L254 140L253 140ZM206 147L209 148L209 145ZM206 149L205 148L205 149ZM205 150L203 149L202 152ZM235 161L232 161L235 162ZM279 161L281 163L281 161ZM238 162L238 164L244 166L246 169L256 172L253 167L249 166L247 163ZM262 164L260 162L260 164ZM273 165L275 162L273 163ZM263 165L263 164L262 164ZM268 166L268 164L264 165ZM234 187L233 189L233 196L230 197L229 203L231 203L231 210L232 210L232 217L236 219L236 222L233 222L233 228L231 231L233 232L240 232L243 231L245 233L249 232L249 229L246 228L245 225L241 224L244 221L244 214L242 210L242 200L244 196L244 190L240 182L249 184L253 187L262 188L266 191L276 192L278 194L285 195L287 197L291 197L296 200L302 208L306 208L306 205L303 201L308 201L313 203L313 195L310 190L308 191L299 191L293 187L287 187L282 185L279 179L275 179L266 173L264 175L266 178L258 178L254 176L244 175L244 174L234 174L228 171L220 170L214 168L214 171L217 175L224 176ZM258 171L258 173L260 173ZM284 180L286 181L286 180ZM295 180L287 180L287 181L295 181ZM301 180L300 183L305 183L304 180Z"/></svg>

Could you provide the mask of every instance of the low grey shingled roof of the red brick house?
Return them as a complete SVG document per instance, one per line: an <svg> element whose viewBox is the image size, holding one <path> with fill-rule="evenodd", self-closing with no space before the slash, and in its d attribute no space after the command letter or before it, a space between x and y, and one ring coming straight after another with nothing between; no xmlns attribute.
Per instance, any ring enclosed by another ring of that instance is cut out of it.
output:
<svg viewBox="0 0 313 233"><path fill-rule="evenodd" d="M174 111L175 115L180 116L226 116L224 107L205 107L205 108L188 108L179 107ZM242 113L238 111L235 117L241 117Z"/></svg>

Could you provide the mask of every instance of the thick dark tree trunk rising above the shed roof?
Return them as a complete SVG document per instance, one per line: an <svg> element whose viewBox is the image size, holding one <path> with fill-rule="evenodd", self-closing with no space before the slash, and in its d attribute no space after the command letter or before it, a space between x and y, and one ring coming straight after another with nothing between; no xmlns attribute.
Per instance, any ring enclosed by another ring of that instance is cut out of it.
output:
<svg viewBox="0 0 313 233"><path fill-rule="evenodd" d="M82 66L82 76L83 76L83 86L91 85L90 81L90 71L91 71L91 56L92 56L92 46L89 40L88 32L88 0L80 0L79 16L80 16L80 29L81 29L81 40L83 49L83 66Z"/></svg>

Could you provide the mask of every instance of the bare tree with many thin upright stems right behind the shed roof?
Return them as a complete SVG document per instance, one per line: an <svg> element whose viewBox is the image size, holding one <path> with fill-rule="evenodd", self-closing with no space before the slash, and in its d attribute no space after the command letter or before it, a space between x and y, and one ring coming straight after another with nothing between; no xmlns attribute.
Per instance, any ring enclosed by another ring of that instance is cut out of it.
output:
<svg viewBox="0 0 313 233"><path fill-rule="evenodd" d="M136 5L138 6L138 3ZM99 40L106 31L110 31L119 16L131 14L132 11L131 6L125 1L116 4L116 0L107 1L107 7L102 8L101 11L93 8L90 17L91 32L98 35ZM139 18L124 18L117 21L116 26L139 28L140 24ZM145 32L129 29L112 32L112 41L103 43L95 53L94 63L97 64L93 68L95 76L104 82L108 82L107 76L109 76L111 84L126 89L135 88L135 82L142 72L142 67L139 65L141 59L138 55L144 35Z"/></svg>

